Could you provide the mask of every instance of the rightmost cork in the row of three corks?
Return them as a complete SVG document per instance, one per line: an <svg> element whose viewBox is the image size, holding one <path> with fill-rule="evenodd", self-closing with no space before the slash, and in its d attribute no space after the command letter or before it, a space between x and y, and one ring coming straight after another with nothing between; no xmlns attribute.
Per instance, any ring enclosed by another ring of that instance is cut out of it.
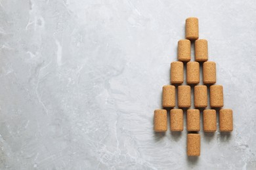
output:
<svg viewBox="0 0 256 170"><path fill-rule="evenodd" d="M203 63L203 83L215 84L216 82L216 63L213 61L205 61Z"/></svg>

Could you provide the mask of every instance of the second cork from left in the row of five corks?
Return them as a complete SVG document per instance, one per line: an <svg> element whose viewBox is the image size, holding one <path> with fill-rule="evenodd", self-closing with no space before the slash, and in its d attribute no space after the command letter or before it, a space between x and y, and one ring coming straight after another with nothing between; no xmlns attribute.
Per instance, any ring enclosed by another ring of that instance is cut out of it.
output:
<svg viewBox="0 0 256 170"><path fill-rule="evenodd" d="M171 131L183 130L183 110L171 109Z"/></svg>

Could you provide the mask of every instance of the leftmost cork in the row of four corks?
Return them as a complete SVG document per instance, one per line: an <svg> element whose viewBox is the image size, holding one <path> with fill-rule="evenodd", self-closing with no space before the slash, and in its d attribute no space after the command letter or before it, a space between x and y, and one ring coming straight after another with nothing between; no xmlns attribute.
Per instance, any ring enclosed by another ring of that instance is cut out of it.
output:
<svg viewBox="0 0 256 170"><path fill-rule="evenodd" d="M163 107L175 107L175 86L163 86Z"/></svg>

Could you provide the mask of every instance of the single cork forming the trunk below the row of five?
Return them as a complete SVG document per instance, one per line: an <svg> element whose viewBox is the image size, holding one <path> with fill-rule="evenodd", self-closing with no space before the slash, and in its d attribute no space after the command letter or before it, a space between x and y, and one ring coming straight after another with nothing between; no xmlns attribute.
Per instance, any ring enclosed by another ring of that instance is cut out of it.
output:
<svg viewBox="0 0 256 170"><path fill-rule="evenodd" d="M188 133L186 141L186 154L188 156L200 156L200 134Z"/></svg>

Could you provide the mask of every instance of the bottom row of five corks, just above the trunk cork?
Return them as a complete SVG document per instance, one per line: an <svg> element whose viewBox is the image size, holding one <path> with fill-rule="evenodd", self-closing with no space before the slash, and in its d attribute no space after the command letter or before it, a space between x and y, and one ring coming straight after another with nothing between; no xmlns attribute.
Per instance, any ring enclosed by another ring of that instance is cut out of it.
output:
<svg viewBox="0 0 256 170"><path fill-rule="evenodd" d="M170 126L171 131L183 131L184 116L182 109L171 109ZM186 112L187 131L200 131L200 110L188 109ZM232 109L221 109L219 111L219 129L220 131L233 130ZM215 132L217 130L216 110L203 110L203 131ZM167 131L167 110L157 109L154 111L154 131Z"/></svg>

